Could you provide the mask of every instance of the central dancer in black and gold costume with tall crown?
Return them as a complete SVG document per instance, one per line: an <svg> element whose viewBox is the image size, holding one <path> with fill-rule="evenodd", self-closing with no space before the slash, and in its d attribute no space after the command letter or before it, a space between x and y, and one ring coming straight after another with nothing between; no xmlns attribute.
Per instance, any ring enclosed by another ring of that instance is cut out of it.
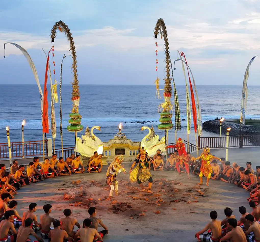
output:
<svg viewBox="0 0 260 242"><path fill-rule="evenodd" d="M148 180L149 193L152 193L151 188L153 184L153 178L149 172L151 169L151 162L152 159L147 155L145 149L142 148L140 149L140 153L137 155L130 169L130 181L135 182L137 180L137 183L142 188L142 191L145 191L143 184ZM138 165L134 168L135 164Z"/></svg>

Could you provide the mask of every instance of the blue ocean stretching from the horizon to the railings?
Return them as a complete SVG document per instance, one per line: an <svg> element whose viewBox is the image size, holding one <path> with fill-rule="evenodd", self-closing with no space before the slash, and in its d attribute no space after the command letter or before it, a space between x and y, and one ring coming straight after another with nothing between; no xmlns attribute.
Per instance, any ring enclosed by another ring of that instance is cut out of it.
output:
<svg viewBox="0 0 260 242"><path fill-rule="evenodd" d="M187 119L185 86L176 86L176 88L181 119ZM260 119L260 86L248 88L246 119ZM242 86L197 86L197 91L203 122L216 117L239 119ZM63 147L74 146L75 136L66 129L72 108L71 92L72 85L62 86ZM160 93L163 96L163 91ZM133 141L141 141L147 134L148 130L141 131L142 126L153 125L156 134L160 137L165 134L164 131L157 129L160 117L157 108L163 99L155 99L155 85L80 85L80 96L79 113L82 115L81 124L84 129L78 133L78 136L84 134L87 125L89 127L97 125L101 127L101 131L94 130L95 135L101 141L108 141L118 132L120 122L123 125L122 132ZM50 86L48 86L48 101L50 117ZM172 102L174 103L174 98ZM57 123L55 148L60 148L60 103L55 103L55 114ZM21 141L23 119L26 120L24 140L42 140L40 94L36 83L35 85L0 85L0 143L7 142L6 126L10 128L11 142ZM136 121L149 122L140 124ZM187 121L181 121L181 131L177 132L177 136L187 140ZM202 136L209 137L216 134L203 131ZM51 138L51 132L47 134L47 138ZM195 143L193 124L189 140ZM173 128L169 131L169 143L174 141L175 129Z"/></svg>

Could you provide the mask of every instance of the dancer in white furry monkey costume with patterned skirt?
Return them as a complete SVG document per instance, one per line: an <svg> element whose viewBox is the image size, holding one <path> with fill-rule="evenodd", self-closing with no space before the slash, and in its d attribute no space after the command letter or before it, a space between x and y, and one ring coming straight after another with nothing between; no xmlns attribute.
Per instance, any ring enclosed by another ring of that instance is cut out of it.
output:
<svg viewBox="0 0 260 242"><path fill-rule="evenodd" d="M116 174L118 172L123 171L123 173L126 173L126 169L121 166L121 163L123 162L123 155L118 155L115 157L115 159L111 162L109 167L107 168L107 185L110 186L110 192L109 192L109 199L111 200L113 192L115 190L116 195L118 195L118 181L116 180Z"/></svg>

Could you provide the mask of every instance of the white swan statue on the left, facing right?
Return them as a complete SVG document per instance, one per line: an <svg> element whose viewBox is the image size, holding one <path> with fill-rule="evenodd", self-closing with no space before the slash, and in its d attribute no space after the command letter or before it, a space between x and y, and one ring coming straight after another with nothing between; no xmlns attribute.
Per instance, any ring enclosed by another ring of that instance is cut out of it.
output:
<svg viewBox="0 0 260 242"><path fill-rule="evenodd" d="M93 126L89 132L89 127L87 126L85 134L81 135L81 138L76 138L77 152L83 157L91 157L95 151L99 155L103 153L102 141L93 133L94 129L101 131L100 126Z"/></svg>

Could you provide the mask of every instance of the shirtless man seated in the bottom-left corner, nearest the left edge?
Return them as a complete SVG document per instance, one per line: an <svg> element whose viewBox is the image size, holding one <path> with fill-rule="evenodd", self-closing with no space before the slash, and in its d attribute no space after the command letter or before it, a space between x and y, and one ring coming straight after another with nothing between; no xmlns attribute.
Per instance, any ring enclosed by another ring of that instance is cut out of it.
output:
<svg viewBox="0 0 260 242"><path fill-rule="evenodd" d="M4 213L5 219L0 223L0 242L13 242L16 241L17 232L14 224L14 211L6 211Z"/></svg>

